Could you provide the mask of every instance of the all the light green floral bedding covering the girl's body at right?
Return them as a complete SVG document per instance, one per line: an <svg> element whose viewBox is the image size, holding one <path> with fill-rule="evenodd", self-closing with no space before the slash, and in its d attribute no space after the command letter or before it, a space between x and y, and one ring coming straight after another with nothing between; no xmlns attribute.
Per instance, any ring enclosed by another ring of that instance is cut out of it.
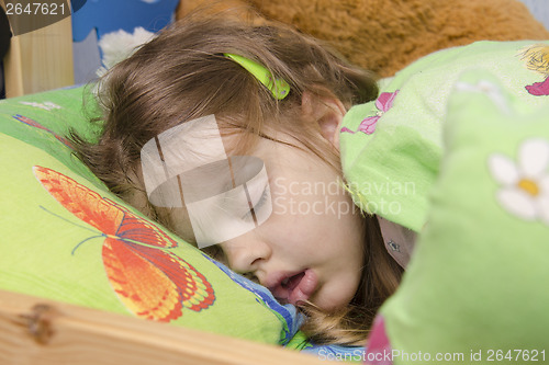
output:
<svg viewBox="0 0 549 365"><path fill-rule="evenodd" d="M356 202L419 232L367 363L548 362L548 55L547 42L439 52L346 117Z"/></svg>

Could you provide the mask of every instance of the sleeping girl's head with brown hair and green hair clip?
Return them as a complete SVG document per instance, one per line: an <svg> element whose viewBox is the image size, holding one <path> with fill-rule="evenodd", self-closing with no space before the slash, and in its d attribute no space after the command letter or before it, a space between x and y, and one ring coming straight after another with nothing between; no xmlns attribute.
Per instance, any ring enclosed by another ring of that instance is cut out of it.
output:
<svg viewBox="0 0 549 365"><path fill-rule="evenodd" d="M316 343L363 344L415 240L357 208L341 171L341 124L378 98L374 75L283 26L192 15L100 85L99 141L74 136L98 178L300 307Z"/></svg>

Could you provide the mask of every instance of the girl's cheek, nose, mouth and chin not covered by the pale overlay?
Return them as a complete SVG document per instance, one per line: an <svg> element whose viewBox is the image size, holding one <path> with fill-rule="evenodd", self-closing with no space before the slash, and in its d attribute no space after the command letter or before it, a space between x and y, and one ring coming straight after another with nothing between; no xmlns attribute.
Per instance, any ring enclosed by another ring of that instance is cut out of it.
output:
<svg viewBox="0 0 549 365"><path fill-rule="evenodd" d="M250 155L266 164L272 214L221 243L229 266L253 273L284 303L347 305L361 277L363 223L340 176L313 153L268 139ZM260 199L251 203L261 209Z"/></svg>

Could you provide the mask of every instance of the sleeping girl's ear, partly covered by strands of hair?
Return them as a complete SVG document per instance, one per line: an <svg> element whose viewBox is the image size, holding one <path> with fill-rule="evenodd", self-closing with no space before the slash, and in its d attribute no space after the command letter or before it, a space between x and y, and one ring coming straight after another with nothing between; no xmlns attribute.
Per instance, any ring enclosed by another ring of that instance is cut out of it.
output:
<svg viewBox="0 0 549 365"><path fill-rule="evenodd" d="M347 112L335 95L320 96L310 91L303 93L301 112L306 121L316 123L321 135L339 150L339 129Z"/></svg>

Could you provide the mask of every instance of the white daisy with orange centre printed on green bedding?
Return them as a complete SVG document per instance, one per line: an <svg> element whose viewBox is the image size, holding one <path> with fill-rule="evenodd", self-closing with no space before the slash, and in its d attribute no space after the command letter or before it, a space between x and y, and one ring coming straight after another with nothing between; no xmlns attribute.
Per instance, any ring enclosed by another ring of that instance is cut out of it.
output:
<svg viewBox="0 0 549 365"><path fill-rule="evenodd" d="M493 153L488 162L492 176L502 185L496 195L500 204L525 220L549 225L549 141L527 139L519 146L516 161Z"/></svg>

